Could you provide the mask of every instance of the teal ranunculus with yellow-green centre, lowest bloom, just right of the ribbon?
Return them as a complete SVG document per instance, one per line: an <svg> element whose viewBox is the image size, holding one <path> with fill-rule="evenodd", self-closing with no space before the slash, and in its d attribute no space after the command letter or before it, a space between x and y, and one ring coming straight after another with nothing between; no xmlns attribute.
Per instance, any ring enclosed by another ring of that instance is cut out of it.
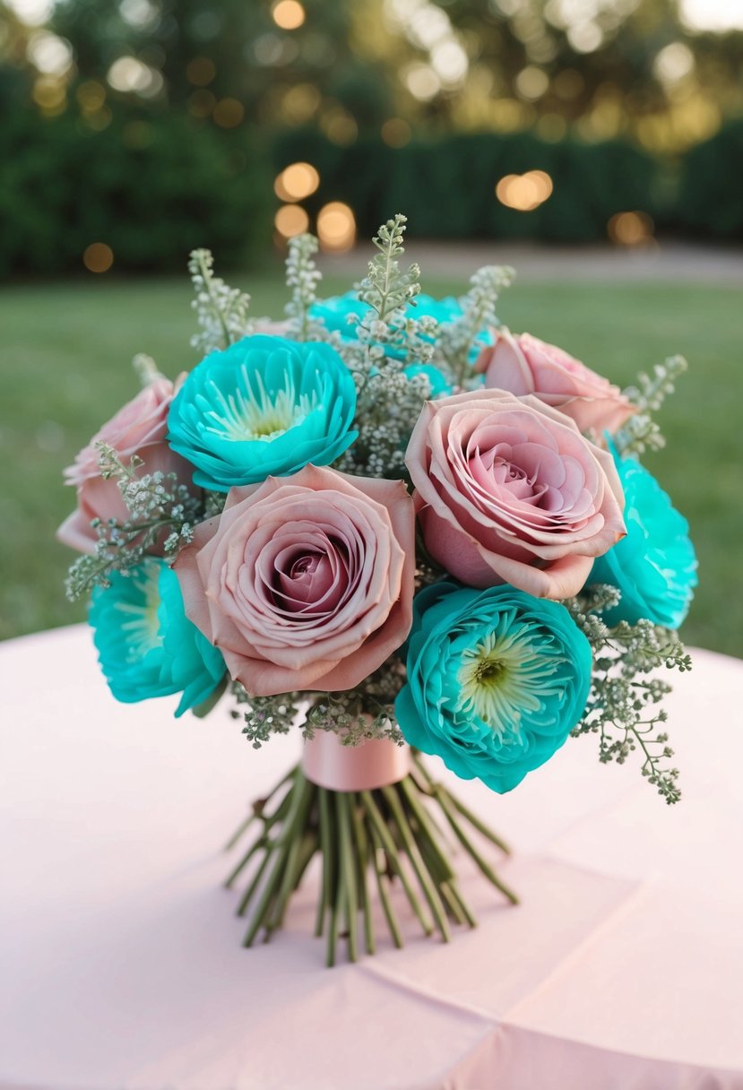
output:
<svg viewBox="0 0 743 1090"><path fill-rule="evenodd" d="M564 606L448 581L416 595L394 711L411 746L500 794L548 761L588 699L590 645Z"/></svg>

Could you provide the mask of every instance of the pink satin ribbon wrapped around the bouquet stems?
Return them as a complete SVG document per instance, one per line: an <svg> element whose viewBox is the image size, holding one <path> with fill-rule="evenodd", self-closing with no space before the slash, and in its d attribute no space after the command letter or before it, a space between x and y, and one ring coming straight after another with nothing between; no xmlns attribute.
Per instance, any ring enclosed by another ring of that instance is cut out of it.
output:
<svg viewBox="0 0 743 1090"><path fill-rule="evenodd" d="M302 771L308 780L329 791L373 791L405 778L410 746L398 746L387 738L343 746L338 735L318 730L304 743Z"/></svg>

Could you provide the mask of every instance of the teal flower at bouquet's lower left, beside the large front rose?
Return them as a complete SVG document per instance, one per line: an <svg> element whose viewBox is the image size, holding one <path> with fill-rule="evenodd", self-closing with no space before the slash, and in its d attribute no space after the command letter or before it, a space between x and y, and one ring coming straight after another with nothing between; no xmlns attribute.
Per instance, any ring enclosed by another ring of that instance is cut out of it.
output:
<svg viewBox="0 0 743 1090"><path fill-rule="evenodd" d="M221 652L186 617L178 576L148 557L93 594L98 661L117 700L133 704L183 693L175 715L207 700L224 677Z"/></svg>

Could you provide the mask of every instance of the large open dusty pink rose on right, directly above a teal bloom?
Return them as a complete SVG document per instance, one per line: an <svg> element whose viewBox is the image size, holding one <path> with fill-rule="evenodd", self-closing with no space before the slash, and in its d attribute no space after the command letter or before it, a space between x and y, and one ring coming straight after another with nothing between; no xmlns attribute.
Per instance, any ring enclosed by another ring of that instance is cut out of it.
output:
<svg viewBox="0 0 743 1090"><path fill-rule="evenodd" d="M625 533L611 456L534 397L428 401L405 462L426 548L471 586L570 597Z"/></svg>

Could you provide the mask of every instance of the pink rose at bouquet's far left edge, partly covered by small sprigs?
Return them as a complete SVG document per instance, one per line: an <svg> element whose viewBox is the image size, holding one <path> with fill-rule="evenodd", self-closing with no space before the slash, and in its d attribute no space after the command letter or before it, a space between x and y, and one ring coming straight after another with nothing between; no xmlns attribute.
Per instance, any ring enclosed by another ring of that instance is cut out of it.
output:
<svg viewBox="0 0 743 1090"><path fill-rule="evenodd" d="M119 485L100 475L96 443L108 443L124 462L132 455L138 455L144 461L139 473L160 470L178 473L184 483L191 480L193 467L173 453L166 443L168 410L183 377L175 386L167 378L157 378L146 386L103 424L64 471L65 484L77 487L77 507L57 531L64 545L81 553L93 553L97 540L95 530L90 529L93 519L124 522L129 518Z"/></svg>

